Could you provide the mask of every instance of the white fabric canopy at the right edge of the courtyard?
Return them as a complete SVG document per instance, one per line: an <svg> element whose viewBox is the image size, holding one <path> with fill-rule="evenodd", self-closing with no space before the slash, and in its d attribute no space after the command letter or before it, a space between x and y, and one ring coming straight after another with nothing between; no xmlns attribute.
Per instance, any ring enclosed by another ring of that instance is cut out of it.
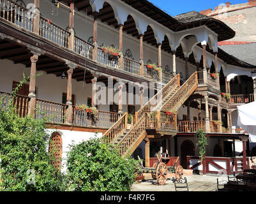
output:
<svg viewBox="0 0 256 204"><path fill-rule="evenodd" d="M250 133L250 142L256 142L256 102L237 106L237 126Z"/></svg>

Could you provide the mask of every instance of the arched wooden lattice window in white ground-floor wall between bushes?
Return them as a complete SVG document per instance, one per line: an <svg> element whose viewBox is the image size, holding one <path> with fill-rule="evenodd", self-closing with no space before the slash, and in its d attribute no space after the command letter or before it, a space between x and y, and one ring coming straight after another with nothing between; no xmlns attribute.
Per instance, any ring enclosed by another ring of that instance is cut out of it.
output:
<svg viewBox="0 0 256 204"><path fill-rule="evenodd" d="M52 133L49 142L49 152L52 157L52 164L57 169L61 169L61 158L62 158L62 138L59 133Z"/></svg>

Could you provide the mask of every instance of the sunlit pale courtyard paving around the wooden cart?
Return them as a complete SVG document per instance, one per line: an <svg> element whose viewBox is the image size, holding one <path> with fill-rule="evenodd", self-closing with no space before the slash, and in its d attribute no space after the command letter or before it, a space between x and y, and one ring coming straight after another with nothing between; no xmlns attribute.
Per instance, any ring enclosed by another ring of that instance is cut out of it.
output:
<svg viewBox="0 0 256 204"><path fill-rule="evenodd" d="M227 177L217 177L208 175L186 175L189 191L216 191L217 179L227 180ZM143 182L133 184L132 191L175 191L175 186L171 180L167 180L163 186L152 184L154 180L146 177ZM186 189L179 189L179 191Z"/></svg>

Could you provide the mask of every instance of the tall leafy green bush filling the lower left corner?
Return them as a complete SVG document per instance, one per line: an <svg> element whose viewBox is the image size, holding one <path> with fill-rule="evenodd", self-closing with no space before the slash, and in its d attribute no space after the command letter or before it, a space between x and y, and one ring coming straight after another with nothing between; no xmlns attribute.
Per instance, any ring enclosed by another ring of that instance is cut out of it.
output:
<svg viewBox="0 0 256 204"><path fill-rule="evenodd" d="M15 114L13 99L0 109L0 191L63 190L63 176L47 153L45 128L45 120Z"/></svg>

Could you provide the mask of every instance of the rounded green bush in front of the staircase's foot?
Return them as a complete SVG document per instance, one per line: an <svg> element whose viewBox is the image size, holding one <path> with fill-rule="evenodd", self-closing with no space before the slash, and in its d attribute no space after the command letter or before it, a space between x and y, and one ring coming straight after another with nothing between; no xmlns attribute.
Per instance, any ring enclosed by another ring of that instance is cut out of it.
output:
<svg viewBox="0 0 256 204"><path fill-rule="evenodd" d="M138 162L119 156L116 147L92 138L70 145L67 156L69 191L130 191Z"/></svg>

